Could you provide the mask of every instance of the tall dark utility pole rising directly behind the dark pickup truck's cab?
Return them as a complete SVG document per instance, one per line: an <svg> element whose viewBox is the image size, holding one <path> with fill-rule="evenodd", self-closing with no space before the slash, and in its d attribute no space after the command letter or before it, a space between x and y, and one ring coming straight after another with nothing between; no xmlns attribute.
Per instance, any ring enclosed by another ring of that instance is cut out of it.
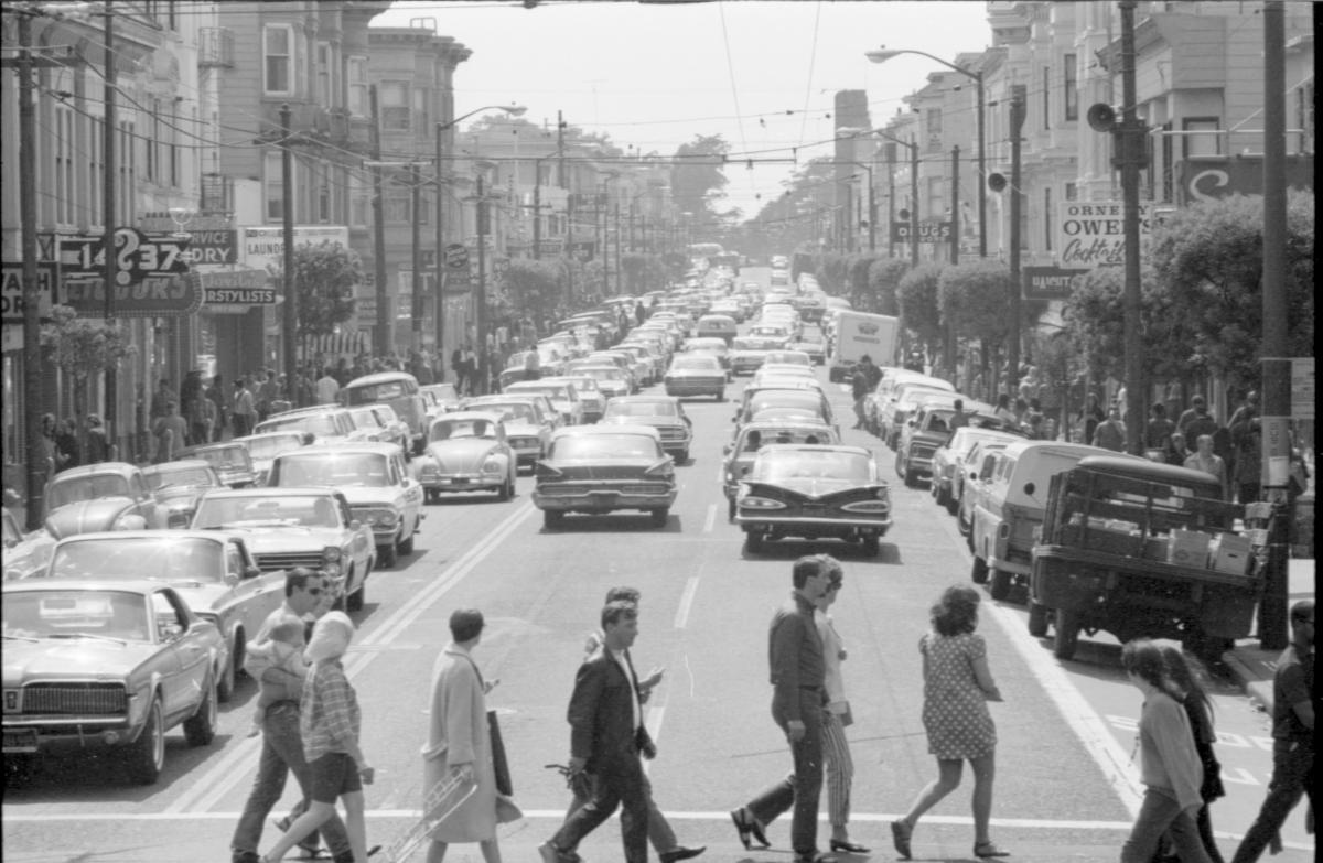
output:
<svg viewBox="0 0 1323 863"><path fill-rule="evenodd" d="M1121 8L1121 200L1126 282L1122 296L1126 345L1126 451L1143 454L1144 345L1139 338L1139 168L1143 128L1135 114L1135 0ZM1019 188L1019 187L1016 187Z"/></svg>

